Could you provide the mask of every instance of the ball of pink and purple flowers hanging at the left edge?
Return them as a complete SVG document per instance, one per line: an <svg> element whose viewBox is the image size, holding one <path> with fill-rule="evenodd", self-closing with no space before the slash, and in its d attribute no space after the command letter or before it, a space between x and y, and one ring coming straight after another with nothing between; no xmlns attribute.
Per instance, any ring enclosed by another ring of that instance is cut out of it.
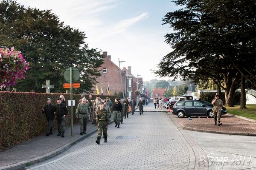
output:
<svg viewBox="0 0 256 170"><path fill-rule="evenodd" d="M14 47L11 50L0 48L0 89L16 85L18 79L25 79L28 65L20 51L14 50Z"/></svg>

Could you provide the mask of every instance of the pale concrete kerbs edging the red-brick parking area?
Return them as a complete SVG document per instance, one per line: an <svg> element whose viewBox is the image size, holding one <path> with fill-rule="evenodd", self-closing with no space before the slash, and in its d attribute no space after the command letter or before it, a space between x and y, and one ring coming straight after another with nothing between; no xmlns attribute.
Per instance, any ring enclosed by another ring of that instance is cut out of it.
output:
<svg viewBox="0 0 256 170"><path fill-rule="evenodd" d="M164 110L166 111L165 108L164 108ZM171 113L171 112L168 112L168 111L166 111L166 112L167 113ZM250 118L247 118L247 117L237 116L237 115L233 115L233 114L230 114L230 113L227 113L227 115L232 116L232 117L236 117L236 118L239 118L239 119L248 120L248 121L251 121L251 122L256 122L256 120L250 119ZM169 114L169 116L172 116L172 115ZM176 126L180 125L183 129L186 129L186 130L192 130L192 131L198 131L198 132L206 132L206 133L220 133L220 134L227 134L227 135L256 136L256 133L223 132L223 131L216 131L216 130L205 130L205 129L198 129L198 128L193 128L193 127L187 127L187 126L184 126L181 123L178 123L175 119L172 119L172 120L174 120L177 123L177 124L175 124Z"/></svg>

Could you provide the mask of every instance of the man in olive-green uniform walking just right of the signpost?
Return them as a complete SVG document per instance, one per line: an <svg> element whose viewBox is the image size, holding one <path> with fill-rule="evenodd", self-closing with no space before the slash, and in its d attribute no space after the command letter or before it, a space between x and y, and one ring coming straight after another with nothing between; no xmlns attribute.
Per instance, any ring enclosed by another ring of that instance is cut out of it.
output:
<svg viewBox="0 0 256 170"><path fill-rule="evenodd" d="M87 120L90 117L90 106L87 103L87 99L83 98L82 102L78 104L76 108L76 118L79 118L80 123L80 135L86 134Z"/></svg>

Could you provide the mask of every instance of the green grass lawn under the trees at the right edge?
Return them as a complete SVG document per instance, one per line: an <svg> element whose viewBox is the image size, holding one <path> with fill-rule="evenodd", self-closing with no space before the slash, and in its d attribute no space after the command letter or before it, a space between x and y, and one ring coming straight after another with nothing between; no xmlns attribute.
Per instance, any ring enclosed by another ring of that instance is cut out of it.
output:
<svg viewBox="0 0 256 170"><path fill-rule="evenodd" d="M240 105L235 105L235 107L226 108L227 113L247 117L250 119L256 119L256 105L246 105L247 109L240 109Z"/></svg>

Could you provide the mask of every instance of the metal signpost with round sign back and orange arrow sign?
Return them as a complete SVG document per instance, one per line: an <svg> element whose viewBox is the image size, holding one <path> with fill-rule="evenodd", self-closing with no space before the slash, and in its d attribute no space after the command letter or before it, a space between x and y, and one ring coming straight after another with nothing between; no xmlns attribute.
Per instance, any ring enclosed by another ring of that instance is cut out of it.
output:
<svg viewBox="0 0 256 170"><path fill-rule="evenodd" d="M65 71L64 71L64 79L67 81L67 82L70 82L70 87L69 85L65 85L67 83L64 83L63 87L64 88L70 88L70 100L71 100L71 136L73 136L73 81L77 81L80 77L80 72L77 68L74 68L74 67L70 67L70 68L67 68ZM74 84L79 84L79 83L74 83ZM79 87L80 87L80 84L79 84Z"/></svg>

